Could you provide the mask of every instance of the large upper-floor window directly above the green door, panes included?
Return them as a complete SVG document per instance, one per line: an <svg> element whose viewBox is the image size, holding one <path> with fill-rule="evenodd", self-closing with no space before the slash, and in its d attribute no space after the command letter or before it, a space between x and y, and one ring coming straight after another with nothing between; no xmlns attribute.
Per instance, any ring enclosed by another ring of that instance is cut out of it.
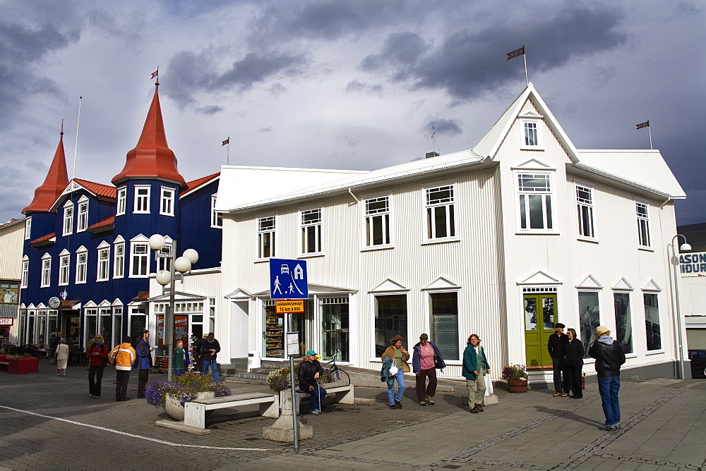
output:
<svg viewBox="0 0 706 471"><path fill-rule="evenodd" d="M517 173L520 230L553 229L551 215L551 175L549 173Z"/></svg>

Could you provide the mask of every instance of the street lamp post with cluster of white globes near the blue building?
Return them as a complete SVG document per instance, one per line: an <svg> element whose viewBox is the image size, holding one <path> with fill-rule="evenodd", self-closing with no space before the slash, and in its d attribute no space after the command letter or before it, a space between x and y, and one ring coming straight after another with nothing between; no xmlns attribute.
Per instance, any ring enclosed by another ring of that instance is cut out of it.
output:
<svg viewBox="0 0 706 471"><path fill-rule="evenodd" d="M177 281L177 277L184 283L184 274L191 271L191 264L198 261L198 252L193 249L184 250L184 255L178 258L174 258L174 248L177 241L172 242L172 250L169 253L163 253L162 249L164 245L167 245L164 237L160 234L155 234L150 237L150 248L155 250L157 258L169 259L169 270L160 270L157 273L157 283L162 286L171 285L169 287L169 309L164 312L164 341L167 342L167 355L168 357L168 367L167 367L167 381L172 381L172 362L174 359L174 283ZM179 274L176 272L179 271Z"/></svg>

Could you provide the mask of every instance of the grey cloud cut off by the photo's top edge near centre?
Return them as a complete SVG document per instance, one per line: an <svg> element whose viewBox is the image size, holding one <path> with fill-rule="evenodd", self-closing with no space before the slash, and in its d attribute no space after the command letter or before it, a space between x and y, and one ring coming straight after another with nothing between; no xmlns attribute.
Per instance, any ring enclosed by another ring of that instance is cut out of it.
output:
<svg viewBox="0 0 706 471"><path fill-rule="evenodd" d="M275 2L263 8L253 21L249 38L252 47L292 38L333 41L359 37L390 18L406 16L409 4L402 0L338 0Z"/></svg>

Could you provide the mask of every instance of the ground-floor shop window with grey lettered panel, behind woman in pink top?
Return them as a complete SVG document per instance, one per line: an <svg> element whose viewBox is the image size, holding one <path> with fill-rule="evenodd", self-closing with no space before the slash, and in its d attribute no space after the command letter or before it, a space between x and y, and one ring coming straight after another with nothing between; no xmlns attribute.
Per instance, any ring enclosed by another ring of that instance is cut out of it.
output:
<svg viewBox="0 0 706 471"><path fill-rule="evenodd" d="M429 293L430 340L445 360L460 360L458 349L458 293Z"/></svg>

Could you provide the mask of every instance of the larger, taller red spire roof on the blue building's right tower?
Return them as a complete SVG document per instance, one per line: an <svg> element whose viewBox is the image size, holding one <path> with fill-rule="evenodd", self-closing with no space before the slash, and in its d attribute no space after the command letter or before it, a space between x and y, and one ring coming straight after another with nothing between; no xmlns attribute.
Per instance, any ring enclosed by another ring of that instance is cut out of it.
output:
<svg viewBox="0 0 706 471"><path fill-rule="evenodd" d="M145 127L137 146L128 152L123 171L113 177L112 183L118 185L128 178L164 178L181 183L186 188L184 177L177 170L177 157L167 145L164 134L160 96L157 93L160 82L155 83L155 97L152 99L147 114Z"/></svg>

